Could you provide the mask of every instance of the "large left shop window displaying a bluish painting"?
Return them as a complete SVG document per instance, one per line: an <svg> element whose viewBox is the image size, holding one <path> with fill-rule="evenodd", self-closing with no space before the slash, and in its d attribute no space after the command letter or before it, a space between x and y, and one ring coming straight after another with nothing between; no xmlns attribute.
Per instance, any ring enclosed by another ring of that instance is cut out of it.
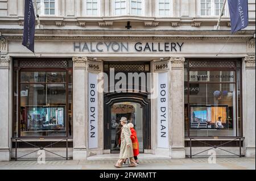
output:
<svg viewBox="0 0 256 181"><path fill-rule="evenodd" d="M72 136L72 67L50 61L14 60L14 137Z"/></svg>

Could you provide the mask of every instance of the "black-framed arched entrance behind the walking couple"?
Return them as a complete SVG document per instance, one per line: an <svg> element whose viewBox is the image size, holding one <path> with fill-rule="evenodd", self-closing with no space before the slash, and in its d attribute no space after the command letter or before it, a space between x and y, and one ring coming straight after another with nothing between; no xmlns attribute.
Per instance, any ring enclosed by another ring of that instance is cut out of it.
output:
<svg viewBox="0 0 256 181"><path fill-rule="evenodd" d="M119 120L127 117L134 124L139 151L151 149L150 99L147 93L107 93L104 95L104 149L119 153Z"/></svg>

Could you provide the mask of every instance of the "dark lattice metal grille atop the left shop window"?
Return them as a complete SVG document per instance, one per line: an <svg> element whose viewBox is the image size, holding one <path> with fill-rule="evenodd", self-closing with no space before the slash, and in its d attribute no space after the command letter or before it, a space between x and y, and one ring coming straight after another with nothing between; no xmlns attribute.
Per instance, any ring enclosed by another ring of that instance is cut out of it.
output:
<svg viewBox="0 0 256 181"><path fill-rule="evenodd" d="M14 67L19 68L70 68L72 64L69 60L14 60Z"/></svg>

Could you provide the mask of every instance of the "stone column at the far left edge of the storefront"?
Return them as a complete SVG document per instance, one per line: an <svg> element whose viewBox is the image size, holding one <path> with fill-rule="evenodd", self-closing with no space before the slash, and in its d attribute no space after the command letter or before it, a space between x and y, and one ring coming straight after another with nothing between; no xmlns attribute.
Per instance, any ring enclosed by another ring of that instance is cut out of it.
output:
<svg viewBox="0 0 256 181"><path fill-rule="evenodd" d="M10 161L11 117L10 104L10 57L0 57L0 161Z"/></svg>

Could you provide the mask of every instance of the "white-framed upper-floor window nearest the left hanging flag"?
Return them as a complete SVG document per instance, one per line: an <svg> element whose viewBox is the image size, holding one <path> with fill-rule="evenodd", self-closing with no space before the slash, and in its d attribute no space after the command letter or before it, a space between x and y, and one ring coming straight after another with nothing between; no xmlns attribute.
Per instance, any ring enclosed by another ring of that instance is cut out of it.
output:
<svg viewBox="0 0 256 181"><path fill-rule="evenodd" d="M33 6L35 7L34 1ZM56 15L55 0L36 0L36 6L39 15Z"/></svg>

